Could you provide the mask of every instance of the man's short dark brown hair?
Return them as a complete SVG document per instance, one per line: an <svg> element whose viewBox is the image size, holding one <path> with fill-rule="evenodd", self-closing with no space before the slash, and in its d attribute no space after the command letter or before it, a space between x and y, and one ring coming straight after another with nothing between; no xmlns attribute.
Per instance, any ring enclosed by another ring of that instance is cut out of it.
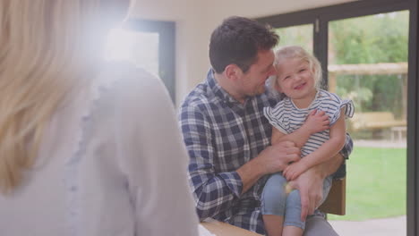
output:
<svg viewBox="0 0 419 236"><path fill-rule="evenodd" d="M257 61L258 51L270 50L278 41L278 34L269 26L244 17L230 17L211 34L209 61L217 73L224 72L229 64L247 72Z"/></svg>

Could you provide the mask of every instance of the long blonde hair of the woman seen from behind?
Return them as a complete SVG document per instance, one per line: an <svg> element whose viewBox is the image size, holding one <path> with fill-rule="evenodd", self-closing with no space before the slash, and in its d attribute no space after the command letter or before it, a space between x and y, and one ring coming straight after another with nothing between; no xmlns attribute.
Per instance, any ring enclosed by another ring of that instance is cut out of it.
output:
<svg viewBox="0 0 419 236"><path fill-rule="evenodd" d="M23 171L34 164L47 122L64 97L95 73L100 55L94 43L103 35L94 30L105 17L101 7L100 0L0 1L4 194L18 186Z"/></svg>

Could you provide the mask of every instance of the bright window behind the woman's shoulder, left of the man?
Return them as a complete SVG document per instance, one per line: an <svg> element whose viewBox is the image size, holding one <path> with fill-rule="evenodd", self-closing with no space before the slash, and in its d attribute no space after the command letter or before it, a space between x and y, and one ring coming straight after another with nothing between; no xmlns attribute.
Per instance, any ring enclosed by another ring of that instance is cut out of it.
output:
<svg viewBox="0 0 419 236"><path fill-rule="evenodd" d="M157 75L175 102L175 23L132 19L108 38L107 58L127 60Z"/></svg>

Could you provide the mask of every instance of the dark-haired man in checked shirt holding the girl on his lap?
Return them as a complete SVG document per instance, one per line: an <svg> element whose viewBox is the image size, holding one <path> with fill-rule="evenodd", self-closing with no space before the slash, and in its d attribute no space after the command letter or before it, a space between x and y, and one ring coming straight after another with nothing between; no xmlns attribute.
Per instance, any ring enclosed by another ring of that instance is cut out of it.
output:
<svg viewBox="0 0 419 236"><path fill-rule="evenodd" d="M211 217L265 233L261 190L267 176L300 158L292 142L269 146L271 126L262 112L264 106L281 99L266 89L267 79L275 74L272 48L277 44L277 34L242 17L228 18L211 35L212 69L180 110L184 143L191 157L190 183L201 220ZM352 149L350 139L347 143L346 148ZM342 162L342 156L335 156L290 182L300 190L302 218L311 215L305 235L337 235L321 214L312 213L321 199L323 179Z"/></svg>

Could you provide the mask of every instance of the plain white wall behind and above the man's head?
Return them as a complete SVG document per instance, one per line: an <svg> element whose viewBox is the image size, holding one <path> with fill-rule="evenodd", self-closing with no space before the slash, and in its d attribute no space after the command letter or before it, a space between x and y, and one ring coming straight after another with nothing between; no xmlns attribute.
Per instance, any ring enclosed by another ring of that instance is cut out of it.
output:
<svg viewBox="0 0 419 236"><path fill-rule="evenodd" d="M176 104L179 104L196 84L205 79L209 69L210 33L228 16L254 18L353 1L355 0L137 0L133 16L175 21L175 85Z"/></svg>

